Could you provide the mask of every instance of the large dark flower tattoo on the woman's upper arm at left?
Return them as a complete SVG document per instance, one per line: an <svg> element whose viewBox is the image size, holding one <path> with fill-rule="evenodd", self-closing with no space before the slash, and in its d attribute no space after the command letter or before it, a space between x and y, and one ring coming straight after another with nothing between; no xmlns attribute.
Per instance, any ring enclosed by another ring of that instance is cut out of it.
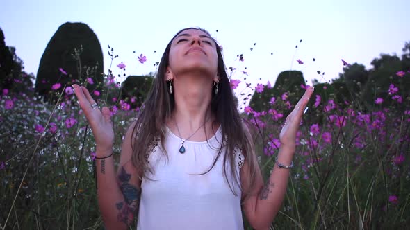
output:
<svg viewBox="0 0 410 230"><path fill-rule="evenodd" d="M133 222L134 216L138 213L141 190L136 186L129 184L131 174L126 173L124 167L121 168L118 179L120 180L122 195L124 195L124 202L118 202L116 204L117 210L119 211L117 220L124 222L124 224L128 226Z"/></svg>

